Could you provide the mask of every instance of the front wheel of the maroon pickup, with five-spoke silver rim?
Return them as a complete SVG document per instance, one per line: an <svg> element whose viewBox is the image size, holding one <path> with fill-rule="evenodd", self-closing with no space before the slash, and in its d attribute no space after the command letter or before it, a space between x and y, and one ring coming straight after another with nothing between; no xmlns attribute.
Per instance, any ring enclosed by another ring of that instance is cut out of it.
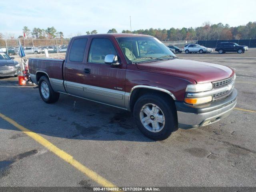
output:
<svg viewBox="0 0 256 192"><path fill-rule="evenodd" d="M153 112L153 107L158 110ZM139 130L153 140L164 140L178 129L174 103L160 94L141 96L134 105L133 115ZM143 125L145 118L147 122Z"/></svg>

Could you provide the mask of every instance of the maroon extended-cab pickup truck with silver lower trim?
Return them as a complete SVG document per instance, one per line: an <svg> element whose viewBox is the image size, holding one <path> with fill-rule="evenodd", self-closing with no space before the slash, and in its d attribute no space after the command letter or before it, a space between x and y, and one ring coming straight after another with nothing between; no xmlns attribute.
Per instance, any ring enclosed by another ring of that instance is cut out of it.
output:
<svg viewBox="0 0 256 192"><path fill-rule="evenodd" d="M30 58L29 72L44 102L63 93L129 110L154 140L214 123L236 105L232 69L178 59L147 35L73 37L65 60Z"/></svg>

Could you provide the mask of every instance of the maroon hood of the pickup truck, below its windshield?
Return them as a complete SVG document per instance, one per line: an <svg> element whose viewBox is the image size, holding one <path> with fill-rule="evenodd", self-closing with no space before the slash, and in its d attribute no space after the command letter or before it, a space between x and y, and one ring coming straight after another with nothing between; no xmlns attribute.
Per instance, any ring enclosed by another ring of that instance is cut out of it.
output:
<svg viewBox="0 0 256 192"><path fill-rule="evenodd" d="M234 75L232 69L223 65L185 59L139 63L137 67L141 70L183 76L197 83L214 82Z"/></svg>

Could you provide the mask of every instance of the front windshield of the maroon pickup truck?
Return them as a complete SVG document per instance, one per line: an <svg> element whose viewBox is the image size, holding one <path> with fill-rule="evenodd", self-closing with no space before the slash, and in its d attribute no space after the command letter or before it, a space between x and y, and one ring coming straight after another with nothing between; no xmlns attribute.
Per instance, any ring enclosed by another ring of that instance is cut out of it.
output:
<svg viewBox="0 0 256 192"><path fill-rule="evenodd" d="M168 47L154 37L119 37L116 39L126 58L134 63L176 58Z"/></svg>

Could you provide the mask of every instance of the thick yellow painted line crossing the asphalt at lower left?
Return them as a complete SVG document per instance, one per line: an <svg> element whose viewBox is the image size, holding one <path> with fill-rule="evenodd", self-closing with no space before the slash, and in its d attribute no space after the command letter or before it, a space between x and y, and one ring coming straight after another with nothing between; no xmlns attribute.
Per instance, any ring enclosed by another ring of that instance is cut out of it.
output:
<svg viewBox="0 0 256 192"><path fill-rule="evenodd" d="M92 180L94 180L95 182L100 184L101 186L115 187L114 184L112 184L111 182L109 182L108 180L103 178L102 176L98 175L96 172L90 170L86 166L82 165L80 162L75 160L71 155L60 150L58 147L56 147L54 144L50 143L48 140L46 140L42 136L36 134L35 132L28 130L27 128L21 126L14 120L6 117L5 115L3 115L1 113L0 113L0 117L2 119L6 120L7 122L9 122L10 124L12 124L13 126L15 126L16 128L18 128L19 130L21 130L22 132L24 132L25 134L27 134L28 136L30 136L32 139L34 139L35 141L40 143L42 146L48 148L48 150L50 150L51 152L53 152L54 154L56 154L57 156L62 158L64 161L66 161L69 164L71 164L72 166L74 166L76 169L80 170L82 173L84 173L86 176L88 176L89 178L91 178Z"/></svg>

